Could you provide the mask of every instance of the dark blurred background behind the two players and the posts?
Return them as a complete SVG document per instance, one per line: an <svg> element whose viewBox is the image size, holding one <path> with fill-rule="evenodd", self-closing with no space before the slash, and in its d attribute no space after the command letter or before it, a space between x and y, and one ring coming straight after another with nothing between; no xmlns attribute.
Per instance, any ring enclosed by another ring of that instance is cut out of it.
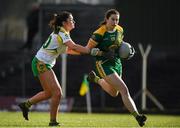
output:
<svg viewBox="0 0 180 128"><path fill-rule="evenodd" d="M27 40L26 16L34 2L39 4L38 34L33 39L31 50L20 50ZM141 90L142 57L138 43L152 50L147 63L148 90L165 107L164 112L180 112L180 10L177 0L0 0L0 108L8 104L3 98L27 98L41 90L39 81L33 77L31 60L47 36L50 14L67 10L72 12L76 29L72 39L86 45L92 32L103 20L110 8L120 11L120 24L124 28L125 41L136 49L132 60L123 61L123 79L133 96ZM61 57L54 70L61 82ZM85 97L79 95L84 74L94 65L94 59L87 56L67 57L67 97L73 98L72 111L84 111ZM98 112L125 111L121 98L112 98L98 85L90 85L92 110ZM10 99L11 99L10 98ZM141 108L141 98L136 98ZM158 111L150 99L147 110Z"/></svg>

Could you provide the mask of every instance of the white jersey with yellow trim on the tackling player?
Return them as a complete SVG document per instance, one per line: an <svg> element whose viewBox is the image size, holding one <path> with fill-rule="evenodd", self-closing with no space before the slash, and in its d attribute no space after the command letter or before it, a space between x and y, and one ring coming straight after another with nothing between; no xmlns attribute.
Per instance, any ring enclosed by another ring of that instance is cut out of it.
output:
<svg viewBox="0 0 180 128"><path fill-rule="evenodd" d="M67 46L65 43L69 40L71 40L71 37L63 28L60 29L58 34L51 33L37 52L36 58L53 67L56 63L56 58L66 52Z"/></svg>

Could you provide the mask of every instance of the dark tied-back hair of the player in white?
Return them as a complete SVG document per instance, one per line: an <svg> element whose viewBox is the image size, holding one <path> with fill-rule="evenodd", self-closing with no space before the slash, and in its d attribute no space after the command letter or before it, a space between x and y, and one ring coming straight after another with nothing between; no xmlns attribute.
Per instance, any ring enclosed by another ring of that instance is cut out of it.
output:
<svg viewBox="0 0 180 128"><path fill-rule="evenodd" d="M60 27L63 26L63 22L67 21L70 15L72 14L67 11L62 11L59 14L53 14L53 18L50 20L49 26L53 29L54 33L57 34L59 32Z"/></svg>

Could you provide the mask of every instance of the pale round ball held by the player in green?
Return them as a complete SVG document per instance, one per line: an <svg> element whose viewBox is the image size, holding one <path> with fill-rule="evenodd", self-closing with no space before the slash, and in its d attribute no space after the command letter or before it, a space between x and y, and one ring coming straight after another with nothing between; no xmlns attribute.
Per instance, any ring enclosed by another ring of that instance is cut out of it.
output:
<svg viewBox="0 0 180 128"><path fill-rule="evenodd" d="M122 59L130 59L134 56L135 49L127 42L122 42L119 47L119 56Z"/></svg>

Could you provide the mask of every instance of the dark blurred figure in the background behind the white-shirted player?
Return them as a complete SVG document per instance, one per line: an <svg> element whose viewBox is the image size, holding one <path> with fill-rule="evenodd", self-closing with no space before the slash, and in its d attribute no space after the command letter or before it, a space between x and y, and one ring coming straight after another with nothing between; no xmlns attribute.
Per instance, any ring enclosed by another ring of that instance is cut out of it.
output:
<svg viewBox="0 0 180 128"><path fill-rule="evenodd" d="M20 49L28 49L31 50L33 46L33 39L38 33L39 28L39 5L32 4L32 8L30 9L27 17L27 40L26 43Z"/></svg>

